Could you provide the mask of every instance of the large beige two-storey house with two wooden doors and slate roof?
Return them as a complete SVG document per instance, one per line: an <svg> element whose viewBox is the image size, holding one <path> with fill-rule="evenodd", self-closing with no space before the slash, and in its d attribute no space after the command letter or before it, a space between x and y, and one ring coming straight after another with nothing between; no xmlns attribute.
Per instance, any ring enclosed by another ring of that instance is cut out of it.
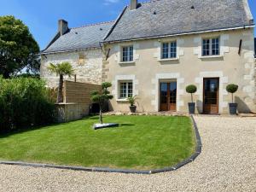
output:
<svg viewBox="0 0 256 192"><path fill-rule="evenodd" d="M195 84L198 113L228 113L225 87L238 84L238 111L256 113L255 25L247 0L131 0L105 25L97 69L99 82L113 84L113 111L129 111L127 96L137 96L138 112L187 112L185 88ZM73 56L79 58L65 59Z"/></svg>

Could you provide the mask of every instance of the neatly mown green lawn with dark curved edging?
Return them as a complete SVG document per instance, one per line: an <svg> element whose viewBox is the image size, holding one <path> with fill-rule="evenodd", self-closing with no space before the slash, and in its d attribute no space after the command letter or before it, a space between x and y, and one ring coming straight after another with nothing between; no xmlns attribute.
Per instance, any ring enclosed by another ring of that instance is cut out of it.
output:
<svg viewBox="0 0 256 192"><path fill-rule="evenodd" d="M97 117L0 137L0 159L72 166L154 169L195 151L188 117L107 116L118 128L92 130Z"/></svg>

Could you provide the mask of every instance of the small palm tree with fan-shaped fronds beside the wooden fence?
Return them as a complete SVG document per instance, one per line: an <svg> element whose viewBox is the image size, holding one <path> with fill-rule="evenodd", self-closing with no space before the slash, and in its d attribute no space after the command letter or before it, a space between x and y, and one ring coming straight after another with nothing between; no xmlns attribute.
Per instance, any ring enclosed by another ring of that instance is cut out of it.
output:
<svg viewBox="0 0 256 192"><path fill-rule="evenodd" d="M57 76L60 76L57 103L63 102L62 90L64 75L72 76L74 74L73 67L69 62L61 62L57 64L50 63L48 69L50 73L56 73Z"/></svg>

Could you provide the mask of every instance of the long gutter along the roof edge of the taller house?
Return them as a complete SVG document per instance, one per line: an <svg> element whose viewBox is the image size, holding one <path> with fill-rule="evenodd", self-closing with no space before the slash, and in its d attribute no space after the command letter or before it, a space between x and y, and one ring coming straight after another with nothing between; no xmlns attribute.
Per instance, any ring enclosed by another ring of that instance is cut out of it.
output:
<svg viewBox="0 0 256 192"><path fill-rule="evenodd" d="M145 38L127 38L127 39L120 39L120 40L104 41L102 43L111 44L116 42L136 41L136 40L144 40L144 39L150 39L150 38L168 38L168 37L174 37L174 36L198 34L198 33L205 33L205 32L222 32L222 31L230 31L230 30L236 30L236 29L247 29L252 27L255 27L255 25L253 24L248 26L234 26L229 28L220 28L220 29L212 29L212 30L196 31L196 32L181 32L181 33L175 33L175 34L169 34L169 35L149 36Z"/></svg>

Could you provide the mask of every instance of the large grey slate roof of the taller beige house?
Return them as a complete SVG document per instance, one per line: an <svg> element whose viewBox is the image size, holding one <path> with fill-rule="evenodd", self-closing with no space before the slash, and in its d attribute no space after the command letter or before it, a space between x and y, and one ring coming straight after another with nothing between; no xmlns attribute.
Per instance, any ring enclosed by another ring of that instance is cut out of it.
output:
<svg viewBox="0 0 256 192"><path fill-rule="evenodd" d="M191 9L194 6L195 9ZM105 42L252 26L243 0L154 0L128 6Z"/></svg>

